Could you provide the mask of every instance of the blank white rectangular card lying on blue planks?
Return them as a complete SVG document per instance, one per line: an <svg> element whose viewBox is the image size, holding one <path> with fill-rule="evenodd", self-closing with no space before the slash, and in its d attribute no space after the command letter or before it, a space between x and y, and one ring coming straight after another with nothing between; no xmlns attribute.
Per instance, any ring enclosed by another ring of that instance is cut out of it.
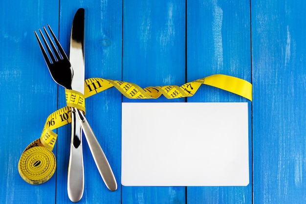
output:
<svg viewBox="0 0 306 204"><path fill-rule="evenodd" d="M125 186L246 186L247 103L122 103Z"/></svg>

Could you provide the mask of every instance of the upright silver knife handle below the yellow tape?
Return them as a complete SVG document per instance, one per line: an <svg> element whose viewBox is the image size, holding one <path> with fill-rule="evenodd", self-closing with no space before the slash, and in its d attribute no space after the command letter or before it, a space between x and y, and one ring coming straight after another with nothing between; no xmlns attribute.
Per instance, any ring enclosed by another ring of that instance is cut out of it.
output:
<svg viewBox="0 0 306 204"><path fill-rule="evenodd" d="M75 110L71 108L71 144L67 178L67 193L72 202L80 201L84 192L82 128Z"/></svg>

